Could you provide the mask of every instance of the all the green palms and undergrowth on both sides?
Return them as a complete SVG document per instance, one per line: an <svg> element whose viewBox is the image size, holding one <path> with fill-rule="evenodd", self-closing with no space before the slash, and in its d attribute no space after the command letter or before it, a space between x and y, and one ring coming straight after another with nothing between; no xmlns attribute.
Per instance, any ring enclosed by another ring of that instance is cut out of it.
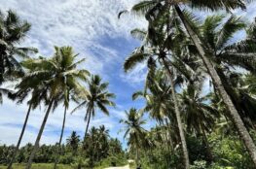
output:
<svg viewBox="0 0 256 169"><path fill-rule="evenodd" d="M148 0L118 15L130 13L148 23L131 30L140 46L124 60L126 73L144 64L146 74L144 87L130 96L134 106L120 119L127 147L105 125L91 126L99 112L111 116L116 95L85 68L85 58L68 46L55 47L52 56L21 48L31 25L13 11L1 14L0 84L15 86L0 88L0 102L26 102L27 113L17 145L0 146L0 164L80 169L133 159L129 167L139 169L256 168L256 20L232 13L247 3ZM199 17L198 10L213 14ZM40 106L46 110L36 141L20 147L30 113ZM63 108L59 139L40 145L57 107ZM83 137L72 131L63 142L67 114L78 110L85 111Z"/></svg>

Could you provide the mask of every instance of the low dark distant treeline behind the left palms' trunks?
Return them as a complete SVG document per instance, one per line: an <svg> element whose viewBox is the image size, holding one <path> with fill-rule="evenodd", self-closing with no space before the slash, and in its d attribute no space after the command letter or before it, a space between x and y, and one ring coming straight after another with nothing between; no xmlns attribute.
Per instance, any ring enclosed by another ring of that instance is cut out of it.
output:
<svg viewBox="0 0 256 169"><path fill-rule="evenodd" d="M99 128L91 127L86 137L84 142L73 131L66 139L66 143L61 144L60 149L58 149L58 144L41 145L36 152L34 162L55 163L56 156L58 156L58 163L68 164L76 168L79 166L91 168L102 162L108 162L108 165L126 162L122 144L118 139L110 138L109 131L104 125L99 126ZM14 162L25 163L33 149L34 146L30 143L20 148ZM0 164L9 164L15 151L15 146L0 146Z"/></svg>

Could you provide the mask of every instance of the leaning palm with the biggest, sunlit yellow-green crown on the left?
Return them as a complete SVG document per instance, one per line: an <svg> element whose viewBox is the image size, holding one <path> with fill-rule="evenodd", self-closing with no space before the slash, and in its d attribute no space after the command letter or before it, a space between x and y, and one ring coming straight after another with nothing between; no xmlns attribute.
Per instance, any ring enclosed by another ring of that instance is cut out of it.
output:
<svg viewBox="0 0 256 169"><path fill-rule="evenodd" d="M77 54L71 47L55 47L55 55L51 58L28 59L22 63L26 69L34 68L25 78L38 78L44 86L48 86L47 112L37 135L34 149L30 154L26 169L31 168L34 155L39 148L39 142L43 134L47 119L55 102L60 95L65 95L66 88L83 88L79 80L86 81L89 75L87 70L78 70L77 65L84 59L75 61ZM44 77L44 78L42 78ZM29 81L27 83L30 83ZM83 91L83 89L81 89ZM66 95L65 95L66 96ZM62 127L63 128L63 127Z"/></svg>

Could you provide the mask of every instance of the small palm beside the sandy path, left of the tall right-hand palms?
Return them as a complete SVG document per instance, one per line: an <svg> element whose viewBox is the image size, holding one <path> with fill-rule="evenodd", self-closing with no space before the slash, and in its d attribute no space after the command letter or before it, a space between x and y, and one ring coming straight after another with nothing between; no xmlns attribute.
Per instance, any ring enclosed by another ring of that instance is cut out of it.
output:
<svg viewBox="0 0 256 169"><path fill-rule="evenodd" d="M143 147L146 136L146 130L142 125L146 123L146 120L142 119L142 114L139 114L135 108L126 111L126 115L126 119L120 120L126 125L124 138L128 139L130 150L136 152L136 165L139 166L139 149Z"/></svg>

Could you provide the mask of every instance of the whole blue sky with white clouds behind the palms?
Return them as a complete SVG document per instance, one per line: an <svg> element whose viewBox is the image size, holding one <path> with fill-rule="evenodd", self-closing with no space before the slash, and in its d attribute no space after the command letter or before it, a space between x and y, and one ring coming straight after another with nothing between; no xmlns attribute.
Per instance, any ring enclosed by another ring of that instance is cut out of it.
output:
<svg viewBox="0 0 256 169"><path fill-rule="evenodd" d="M99 74L110 83L110 91L116 93L116 109L110 109L110 117L100 112L91 121L91 126L106 125L113 137L123 141L119 133L119 120L125 117L125 110L130 107L141 108L141 101L132 102L131 94L143 87L145 67L138 65L125 74L123 62L139 42L133 40L129 32L136 27L146 27L143 18L123 16L117 18L120 11L130 9L139 0L0 0L1 11L12 9L23 19L32 24L31 31L21 44L35 47L40 54L51 56L54 46L72 46L81 58L86 58L82 65L93 74ZM256 3L249 5L247 12L234 13L252 20ZM205 13L198 12L199 16ZM242 35L238 35L240 37ZM72 104L70 111L75 105ZM16 144L20 127L23 123L27 106L16 105L5 99L0 106L0 144ZM44 107L34 110L28 121L22 145L34 142L44 116ZM53 144L58 140L63 115L62 105L51 114L41 143ZM68 115L65 135L72 130L83 135L86 127L85 110ZM148 126L150 126L150 122Z"/></svg>

